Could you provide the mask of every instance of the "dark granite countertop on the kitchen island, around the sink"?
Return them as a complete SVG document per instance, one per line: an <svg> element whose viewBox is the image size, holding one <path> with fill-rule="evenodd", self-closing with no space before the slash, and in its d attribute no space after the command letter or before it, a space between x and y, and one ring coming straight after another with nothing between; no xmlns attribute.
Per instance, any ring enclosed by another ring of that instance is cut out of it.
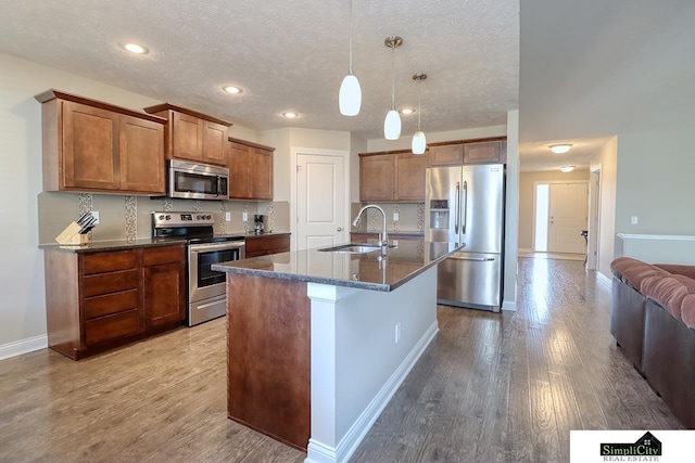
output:
<svg viewBox="0 0 695 463"><path fill-rule="evenodd" d="M374 243L374 240L369 240ZM212 269L282 280L390 292L463 248L456 243L401 241L381 258L380 248L342 254L318 248L213 265Z"/></svg>

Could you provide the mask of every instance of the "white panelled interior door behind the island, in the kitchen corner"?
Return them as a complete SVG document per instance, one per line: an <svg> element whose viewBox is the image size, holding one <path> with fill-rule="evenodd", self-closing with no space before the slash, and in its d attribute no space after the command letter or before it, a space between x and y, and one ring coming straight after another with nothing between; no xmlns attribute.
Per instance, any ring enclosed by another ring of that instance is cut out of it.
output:
<svg viewBox="0 0 695 463"><path fill-rule="evenodd" d="M296 155L296 248L345 241L345 180L342 156Z"/></svg>

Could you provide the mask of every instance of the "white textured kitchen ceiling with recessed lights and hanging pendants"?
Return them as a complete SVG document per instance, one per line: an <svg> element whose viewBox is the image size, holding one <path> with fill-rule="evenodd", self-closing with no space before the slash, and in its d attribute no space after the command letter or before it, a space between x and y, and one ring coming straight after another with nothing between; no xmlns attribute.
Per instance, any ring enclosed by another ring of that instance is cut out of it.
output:
<svg viewBox="0 0 695 463"><path fill-rule="evenodd" d="M503 125L518 108L519 0L354 0L356 117L341 116L348 72L348 0L3 0L0 51L90 77L256 130L306 127L382 136L390 107L417 106L422 129ZM150 53L134 56L119 42ZM224 85L241 95L220 91ZM300 118L287 120L280 113ZM417 117L403 117L403 134Z"/></svg>

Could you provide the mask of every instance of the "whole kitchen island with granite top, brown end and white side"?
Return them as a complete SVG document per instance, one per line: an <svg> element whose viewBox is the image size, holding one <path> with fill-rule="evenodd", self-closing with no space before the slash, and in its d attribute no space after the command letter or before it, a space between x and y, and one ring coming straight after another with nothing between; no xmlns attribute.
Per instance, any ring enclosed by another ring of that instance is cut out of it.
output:
<svg viewBox="0 0 695 463"><path fill-rule="evenodd" d="M438 332L437 263L454 243L386 256L318 249L224 262L229 419L343 462Z"/></svg>

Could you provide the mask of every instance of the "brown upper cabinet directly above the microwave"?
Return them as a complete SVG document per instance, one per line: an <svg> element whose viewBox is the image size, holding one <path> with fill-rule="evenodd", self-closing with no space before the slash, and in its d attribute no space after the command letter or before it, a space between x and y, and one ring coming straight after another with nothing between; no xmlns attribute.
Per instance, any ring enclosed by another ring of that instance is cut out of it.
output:
<svg viewBox="0 0 695 463"><path fill-rule="evenodd" d="M166 158L225 166L225 144L230 123L168 103L146 107L168 119L165 131Z"/></svg>

